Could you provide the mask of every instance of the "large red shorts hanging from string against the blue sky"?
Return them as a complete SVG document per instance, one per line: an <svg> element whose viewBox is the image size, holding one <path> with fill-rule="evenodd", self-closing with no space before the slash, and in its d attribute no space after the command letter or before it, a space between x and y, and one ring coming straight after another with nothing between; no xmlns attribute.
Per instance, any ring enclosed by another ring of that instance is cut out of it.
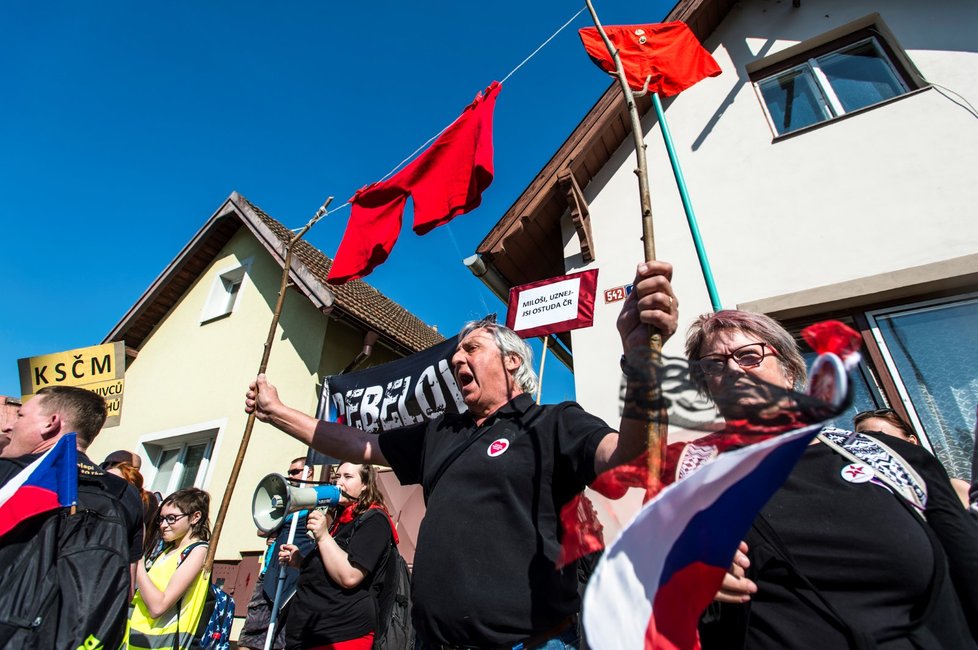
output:
<svg viewBox="0 0 978 650"><path fill-rule="evenodd" d="M414 232L419 235L479 206L492 183L492 113L499 88L492 82L410 165L350 199L353 208L329 271L330 284L362 278L384 263L400 234L408 196L414 199Z"/></svg>

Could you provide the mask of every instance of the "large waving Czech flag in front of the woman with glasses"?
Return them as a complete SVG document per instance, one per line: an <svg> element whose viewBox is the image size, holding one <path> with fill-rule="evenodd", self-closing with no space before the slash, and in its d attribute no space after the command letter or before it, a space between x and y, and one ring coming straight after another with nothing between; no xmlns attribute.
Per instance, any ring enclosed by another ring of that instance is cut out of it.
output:
<svg viewBox="0 0 978 650"><path fill-rule="evenodd" d="M720 456L660 492L608 547L584 595L594 650L699 648L697 622L740 541L820 425Z"/></svg>

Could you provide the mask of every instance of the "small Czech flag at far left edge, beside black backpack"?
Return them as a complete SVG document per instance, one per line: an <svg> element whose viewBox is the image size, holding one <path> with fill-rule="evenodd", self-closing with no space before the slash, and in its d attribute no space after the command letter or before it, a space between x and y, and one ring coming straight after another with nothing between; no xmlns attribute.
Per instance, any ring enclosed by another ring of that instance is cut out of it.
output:
<svg viewBox="0 0 978 650"><path fill-rule="evenodd" d="M75 434L61 437L43 456L0 487L0 536L29 517L78 503Z"/></svg>

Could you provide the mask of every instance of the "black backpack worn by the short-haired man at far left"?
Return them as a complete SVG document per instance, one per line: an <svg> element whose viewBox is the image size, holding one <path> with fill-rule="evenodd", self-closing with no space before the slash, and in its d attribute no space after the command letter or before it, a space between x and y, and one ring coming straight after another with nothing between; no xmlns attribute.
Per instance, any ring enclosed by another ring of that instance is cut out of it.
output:
<svg viewBox="0 0 978 650"><path fill-rule="evenodd" d="M80 475L75 514L37 515L0 540L0 647L119 647L129 610L127 486Z"/></svg>

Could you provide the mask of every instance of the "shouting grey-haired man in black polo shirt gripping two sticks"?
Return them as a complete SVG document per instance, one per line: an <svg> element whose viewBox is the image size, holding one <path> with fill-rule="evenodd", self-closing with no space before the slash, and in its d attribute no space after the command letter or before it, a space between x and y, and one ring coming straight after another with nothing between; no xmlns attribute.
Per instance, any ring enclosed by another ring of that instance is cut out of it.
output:
<svg viewBox="0 0 978 650"><path fill-rule="evenodd" d="M648 327L676 330L672 267L639 265L618 318L625 352L648 345ZM576 647L580 607L574 565L555 568L560 509L600 472L644 451L644 420L619 431L574 402L539 406L529 348L487 321L459 334L452 357L468 410L368 434L319 422L278 399L259 376L246 410L337 458L389 465L424 487L412 575L421 648Z"/></svg>

